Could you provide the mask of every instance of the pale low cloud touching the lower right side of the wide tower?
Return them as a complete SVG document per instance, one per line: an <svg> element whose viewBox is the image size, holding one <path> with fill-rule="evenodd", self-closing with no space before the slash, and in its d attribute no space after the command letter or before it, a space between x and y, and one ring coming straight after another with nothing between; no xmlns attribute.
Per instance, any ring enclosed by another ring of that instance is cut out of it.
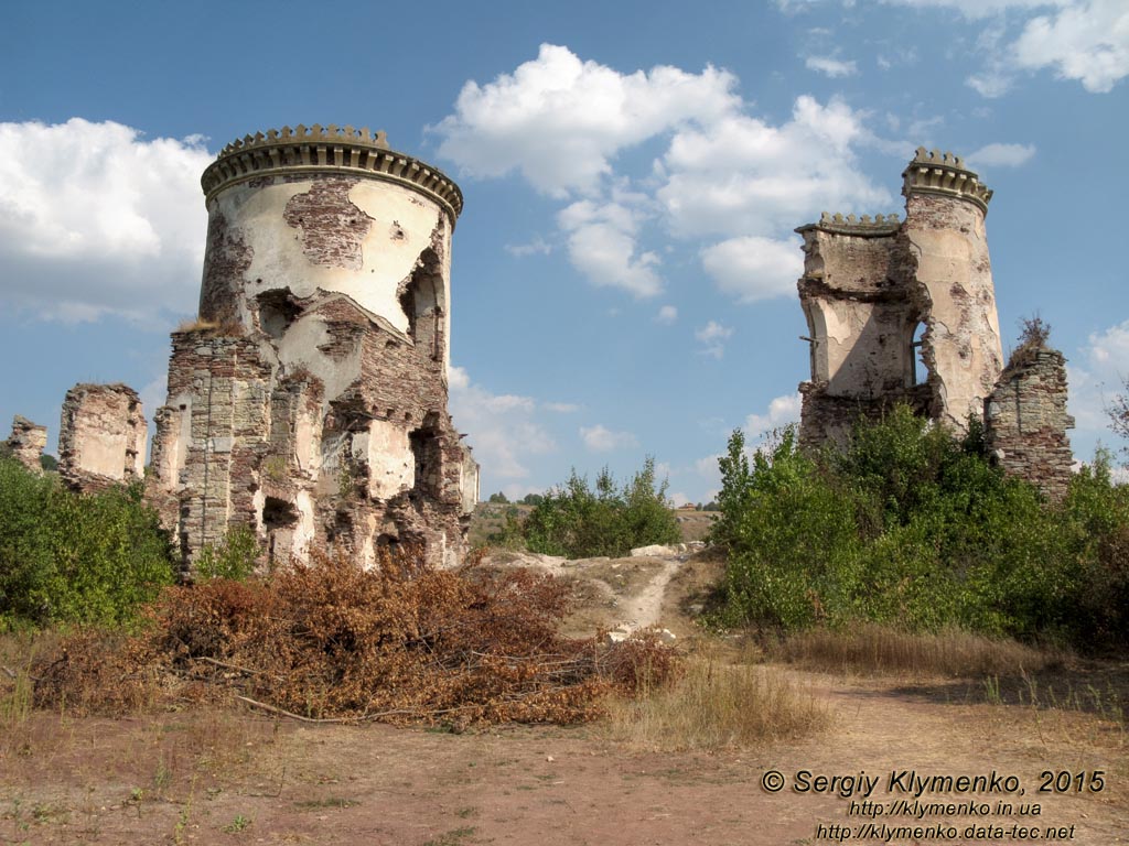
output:
<svg viewBox="0 0 1129 846"><path fill-rule="evenodd" d="M448 385L452 417L460 431L470 433L467 440L484 472L505 479L526 478L530 456L555 451L530 397L491 394L458 367L448 370Z"/></svg>

